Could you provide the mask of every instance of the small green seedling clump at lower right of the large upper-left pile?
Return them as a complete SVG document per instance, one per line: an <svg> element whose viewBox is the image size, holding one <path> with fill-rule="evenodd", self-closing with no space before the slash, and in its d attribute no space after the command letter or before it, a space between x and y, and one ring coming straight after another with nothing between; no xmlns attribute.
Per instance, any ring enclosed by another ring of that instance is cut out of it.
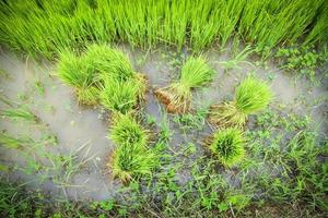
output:
<svg viewBox="0 0 328 218"><path fill-rule="evenodd" d="M101 104L112 112L131 112L138 106L140 87L137 81L122 83L108 77L99 93Z"/></svg>

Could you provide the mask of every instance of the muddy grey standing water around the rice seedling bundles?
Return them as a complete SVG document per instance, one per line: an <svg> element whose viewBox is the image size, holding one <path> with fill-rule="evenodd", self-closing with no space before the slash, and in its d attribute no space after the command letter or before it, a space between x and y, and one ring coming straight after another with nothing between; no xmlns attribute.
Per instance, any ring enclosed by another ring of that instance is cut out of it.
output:
<svg viewBox="0 0 328 218"><path fill-rule="evenodd" d="M165 122L165 114L152 95L153 88L166 86L176 78L180 60L188 53L131 51L127 47L121 49L128 53L134 69L149 78L144 112L160 126ZM306 78L279 70L273 62L257 66L256 57L247 59L253 65L244 62L236 69L225 71L220 62L231 58L229 51L208 51L204 55L216 75L208 87L195 90L196 108L202 109L211 102L232 99L236 84L247 74L254 73L269 82L276 96L270 106L272 109L283 108L285 111L307 114L315 121L313 128L318 130L319 135L324 137L327 134L327 81L314 85ZM31 189L40 189L52 196L107 199L116 195L122 185L112 178L106 167L114 148L107 137L110 114L99 107L79 106L73 89L56 77L56 65L51 63L36 63L1 50L0 69L1 98L8 99L13 106L28 107L39 118L38 123L1 118L0 131L14 137L28 137L34 142L24 150L0 147L0 164L10 166L2 170L1 177L19 180ZM0 105L1 110L11 107L4 102ZM204 150L201 143L212 128L204 122L199 130L184 131L184 126L175 122L174 116L167 116L167 119L173 132L169 149L178 150L192 142L197 146L197 155L202 155ZM250 128L251 120L248 124ZM57 145L55 137L45 140L49 135L56 136ZM62 164L58 160L60 158L67 161ZM229 177L230 171L226 173ZM187 182L188 171L180 170L178 177L181 183Z"/></svg>

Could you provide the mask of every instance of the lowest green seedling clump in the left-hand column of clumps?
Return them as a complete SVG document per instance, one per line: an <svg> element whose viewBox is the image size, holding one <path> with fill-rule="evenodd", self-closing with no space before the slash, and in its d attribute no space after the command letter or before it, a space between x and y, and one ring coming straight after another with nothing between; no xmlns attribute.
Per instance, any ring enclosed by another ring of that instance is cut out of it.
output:
<svg viewBox="0 0 328 218"><path fill-rule="evenodd" d="M113 175L128 183L133 177L151 175L159 167L160 159L156 152L148 149L141 144L120 144L112 154L108 167Z"/></svg>

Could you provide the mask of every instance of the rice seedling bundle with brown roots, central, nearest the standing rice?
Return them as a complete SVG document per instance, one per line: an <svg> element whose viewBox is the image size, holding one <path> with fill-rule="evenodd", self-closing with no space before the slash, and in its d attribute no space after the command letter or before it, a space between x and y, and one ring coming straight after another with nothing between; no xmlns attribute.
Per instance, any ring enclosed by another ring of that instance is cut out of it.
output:
<svg viewBox="0 0 328 218"><path fill-rule="evenodd" d="M168 112L184 113L191 105L191 88L198 88L209 83L214 71L202 57L189 58L183 65L180 78L169 86L159 88L155 95L166 106Z"/></svg>

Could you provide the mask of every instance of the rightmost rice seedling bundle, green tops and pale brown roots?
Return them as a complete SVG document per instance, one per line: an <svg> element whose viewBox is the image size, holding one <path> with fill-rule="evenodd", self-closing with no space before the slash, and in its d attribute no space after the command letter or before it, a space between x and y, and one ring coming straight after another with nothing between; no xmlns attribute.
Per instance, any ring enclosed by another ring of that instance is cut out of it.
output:
<svg viewBox="0 0 328 218"><path fill-rule="evenodd" d="M243 128L247 117L265 109L272 97L265 82L248 76L236 87L233 101L210 107L209 121L219 126Z"/></svg>

